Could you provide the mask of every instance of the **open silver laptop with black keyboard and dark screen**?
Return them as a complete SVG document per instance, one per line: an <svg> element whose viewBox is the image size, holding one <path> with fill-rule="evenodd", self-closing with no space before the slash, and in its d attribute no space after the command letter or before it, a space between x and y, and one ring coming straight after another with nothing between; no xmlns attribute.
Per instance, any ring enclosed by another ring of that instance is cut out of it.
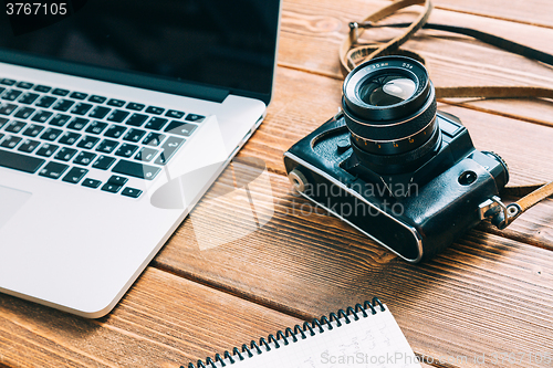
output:
<svg viewBox="0 0 553 368"><path fill-rule="evenodd" d="M0 292L112 311L261 124L279 0L0 14Z"/></svg>

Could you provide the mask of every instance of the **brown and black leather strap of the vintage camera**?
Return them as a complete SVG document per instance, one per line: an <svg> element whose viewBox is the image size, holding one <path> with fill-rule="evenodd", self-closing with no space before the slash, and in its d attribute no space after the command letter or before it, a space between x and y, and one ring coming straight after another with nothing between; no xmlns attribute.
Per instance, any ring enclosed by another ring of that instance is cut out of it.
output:
<svg viewBox="0 0 553 368"><path fill-rule="evenodd" d="M413 23L376 24L377 22L395 14L411 6L424 6L422 11ZM342 73L347 75L356 65L369 61L374 57L385 55L404 55L413 57L422 64L425 59L413 51L403 50L400 46L408 41L418 30L432 29L453 33L461 33L472 36L484 43L494 45L505 51L517 53L522 56L534 59L542 63L553 65L553 55L542 51L525 46L523 44L509 41L507 39L480 32L469 28L428 23L428 18L432 10L430 0L399 0L379 9L365 18L362 22L349 23L349 36L344 40L340 48L340 63ZM368 28L405 28L403 34L392 39L386 43L359 43L358 39ZM436 87L437 98L451 97L483 97L483 98L526 98L542 97L553 98L553 88L538 86L459 86L459 87ZM553 194L553 181L534 186L507 187L507 194L522 197L518 201L508 206L503 204L498 197L491 198L488 202L480 204L482 219L489 218L499 229L504 229L524 211Z"/></svg>

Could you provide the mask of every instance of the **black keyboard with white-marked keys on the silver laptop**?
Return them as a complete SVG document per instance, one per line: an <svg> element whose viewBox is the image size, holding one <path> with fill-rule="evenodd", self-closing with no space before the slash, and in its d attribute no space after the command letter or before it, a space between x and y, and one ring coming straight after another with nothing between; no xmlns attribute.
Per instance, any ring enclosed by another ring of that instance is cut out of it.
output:
<svg viewBox="0 0 553 368"><path fill-rule="evenodd" d="M9 78L0 80L0 167L138 198L206 119ZM111 171L107 180L94 174Z"/></svg>

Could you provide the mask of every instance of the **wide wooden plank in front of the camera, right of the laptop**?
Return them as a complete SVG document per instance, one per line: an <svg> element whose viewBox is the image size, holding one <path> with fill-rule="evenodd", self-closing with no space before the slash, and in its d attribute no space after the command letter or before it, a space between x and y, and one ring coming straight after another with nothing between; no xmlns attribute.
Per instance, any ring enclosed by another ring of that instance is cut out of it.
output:
<svg viewBox="0 0 553 368"><path fill-rule="evenodd" d="M479 366L470 357L481 354L553 353L553 252L472 230L436 260L408 264L269 175L271 186L250 188L258 213L271 217L264 225L239 199L212 194L233 188L227 172L154 264L306 319L377 295L416 353L469 357L460 366ZM212 242L198 242L197 230Z"/></svg>

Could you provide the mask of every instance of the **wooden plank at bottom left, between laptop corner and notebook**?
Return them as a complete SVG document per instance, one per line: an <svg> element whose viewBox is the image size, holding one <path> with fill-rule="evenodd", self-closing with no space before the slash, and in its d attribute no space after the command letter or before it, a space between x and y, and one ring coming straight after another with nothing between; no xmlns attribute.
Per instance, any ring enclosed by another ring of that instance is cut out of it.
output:
<svg viewBox="0 0 553 368"><path fill-rule="evenodd" d="M0 294L0 366L178 367L301 322L149 267L100 320Z"/></svg>

